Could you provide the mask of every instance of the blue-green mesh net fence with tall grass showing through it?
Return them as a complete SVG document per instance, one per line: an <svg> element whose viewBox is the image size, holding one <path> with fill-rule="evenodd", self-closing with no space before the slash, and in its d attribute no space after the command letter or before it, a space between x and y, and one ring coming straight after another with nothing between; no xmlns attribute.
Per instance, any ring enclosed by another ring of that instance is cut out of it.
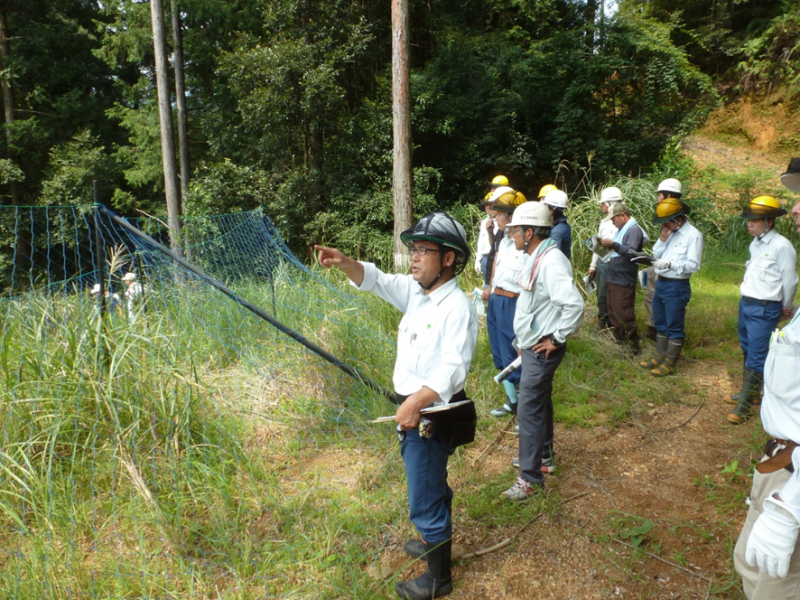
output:
<svg viewBox="0 0 800 600"><path fill-rule="evenodd" d="M208 277L160 248L163 223L134 225L152 237L99 207L0 208L0 597L306 589L269 567L259 531L285 496L281 460L380 443L368 419L392 412L375 388L391 387L393 344L360 320L368 295L309 271L259 211L185 219L181 251Z"/></svg>

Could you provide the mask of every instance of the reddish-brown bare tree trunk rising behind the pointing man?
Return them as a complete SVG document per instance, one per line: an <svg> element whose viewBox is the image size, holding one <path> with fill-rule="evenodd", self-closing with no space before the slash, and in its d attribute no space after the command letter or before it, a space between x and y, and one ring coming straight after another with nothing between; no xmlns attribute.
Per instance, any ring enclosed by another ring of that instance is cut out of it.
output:
<svg viewBox="0 0 800 600"><path fill-rule="evenodd" d="M392 0L392 122L394 130L394 268L405 269L408 254L400 233L411 227L411 83L408 0Z"/></svg>

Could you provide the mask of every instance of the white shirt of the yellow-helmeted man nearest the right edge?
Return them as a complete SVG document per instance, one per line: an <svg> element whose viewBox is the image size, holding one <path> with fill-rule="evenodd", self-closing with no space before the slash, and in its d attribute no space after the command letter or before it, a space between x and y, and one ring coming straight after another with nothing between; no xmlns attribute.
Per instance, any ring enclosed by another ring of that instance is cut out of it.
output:
<svg viewBox="0 0 800 600"><path fill-rule="evenodd" d="M750 242L750 260L745 263L742 296L780 302L791 308L797 291L797 253L774 229Z"/></svg>

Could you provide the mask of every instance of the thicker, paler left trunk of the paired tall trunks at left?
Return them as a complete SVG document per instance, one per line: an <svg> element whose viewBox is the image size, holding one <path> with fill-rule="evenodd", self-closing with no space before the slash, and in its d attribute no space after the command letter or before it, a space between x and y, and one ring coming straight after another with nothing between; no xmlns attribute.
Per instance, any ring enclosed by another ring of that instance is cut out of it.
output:
<svg viewBox="0 0 800 600"><path fill-rule="evenodd" d="M169 94L167 70L167 42L164 28L164 5L161 0L150 0L153 20L153 49L156 59L156 86L158 87L158 115L161 124L161 162L164 166L164 189L167 196L167 223L172 249L180 252L181 197L178 188L175 142L172 139L172 105Z"/></svg>

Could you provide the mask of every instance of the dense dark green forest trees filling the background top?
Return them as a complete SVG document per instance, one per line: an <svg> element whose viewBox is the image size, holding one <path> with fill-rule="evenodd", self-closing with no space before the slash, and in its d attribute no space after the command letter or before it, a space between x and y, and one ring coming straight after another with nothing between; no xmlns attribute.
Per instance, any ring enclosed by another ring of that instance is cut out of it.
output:
<svg viewBox="0 0 800 600"><path fill-rule="evenodd" d="M474 203L497 172L529 195L589 167L635 175L717 90L796 95L798 6L412 0L415 212ZM390 1L164 7L185 73L184 212L263 206L295 248L379 244L393 218ZM3 204L88 204L98 180L122 214L166 214L150 8L3 3Z"/></svg>

